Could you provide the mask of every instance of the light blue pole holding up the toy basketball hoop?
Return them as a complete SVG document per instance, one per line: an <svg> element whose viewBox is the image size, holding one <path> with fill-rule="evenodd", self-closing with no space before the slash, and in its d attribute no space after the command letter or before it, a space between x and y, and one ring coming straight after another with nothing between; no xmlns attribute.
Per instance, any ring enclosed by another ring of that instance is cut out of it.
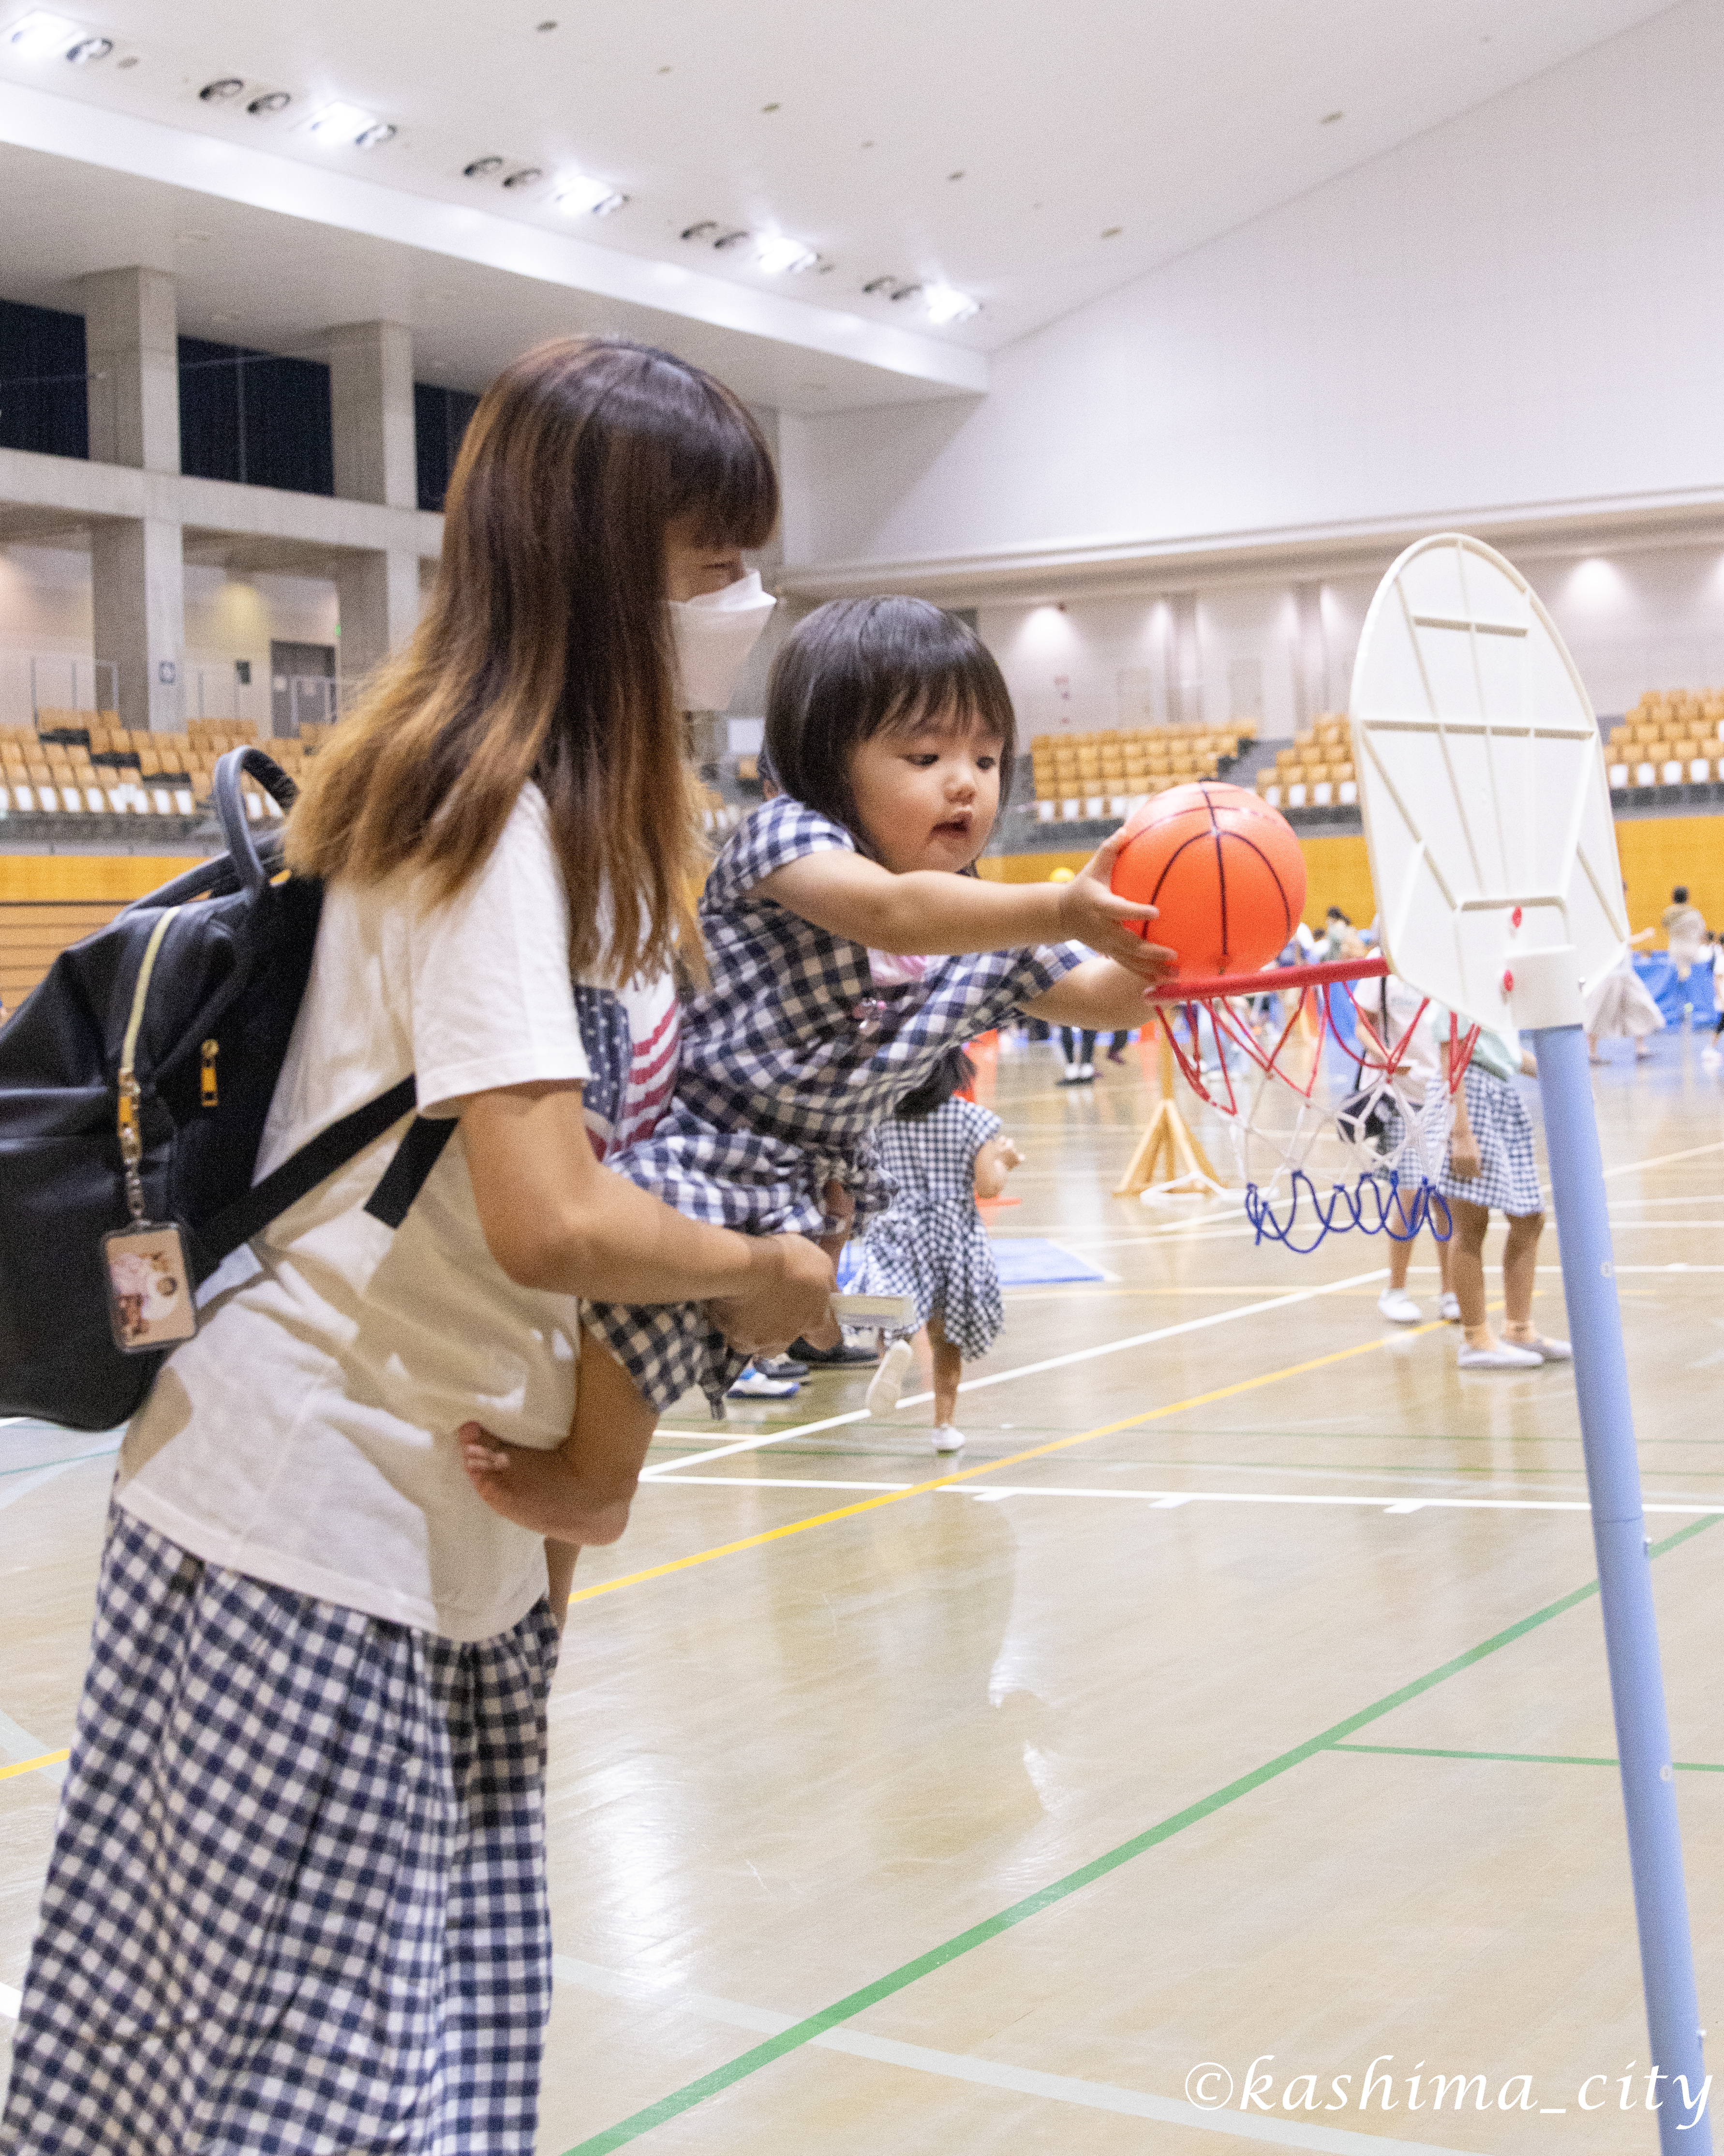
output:
<svg viewBox="0 0 1724 2156"><path fill-rule="evenodd" d="M1580 1436L1586 1449L1586 1490L1593 1501L1593 1546L1599 1557L1599 1602L1629 1826L1646 2024L1653 2065L1664 2076L1655 2083L1655 2098L1662 2104L1659 2152L1679 2156L1685 2150L1687 2156L1711 2156L1711 2106L1702 2096L1700 2007L1687 1932L1677 1777L1670 1766L1653 1576L1623 1354L1623 1313L1616 1302L1586 1035L1577 1024L1543 1026L1532 1033L1532 1050L1539 1059L1556 1231L1562 1242L1562 1291L1575 1348ZM1646 2085L1638 2074L1636 2083L1644 2100Z"/></svg>

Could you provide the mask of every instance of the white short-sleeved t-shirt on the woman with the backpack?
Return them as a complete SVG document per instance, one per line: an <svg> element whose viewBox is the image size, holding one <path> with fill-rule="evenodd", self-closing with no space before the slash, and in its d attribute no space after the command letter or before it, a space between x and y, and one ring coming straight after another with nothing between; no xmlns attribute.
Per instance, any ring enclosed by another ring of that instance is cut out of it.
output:
<svg viewBox="0 0 1724 2156"><path fill-rule="evenodd" d="M670 983L621 1000L636 1041L657 1011L662 1063ZM621 1039L627 1076L627 1026ZM675 1018L670 1046L675 1076ZM588 1080L593 1061L569 983L562 871L528 787L450 903L425 903L407 875L325 893L256 1175L409 1072L420 1112L437 1115L496 1087ZM125 1434L116 1494L209 1563L446 1639L489 1639L545 1591L545 1552L474 1494L455 1432L476 1419L511 1445L562 1442L575 1302L515 1287L496 1263L459 1128L399 1229L364 1212L405 1130L209 1283L196 1339Z"/></svg>

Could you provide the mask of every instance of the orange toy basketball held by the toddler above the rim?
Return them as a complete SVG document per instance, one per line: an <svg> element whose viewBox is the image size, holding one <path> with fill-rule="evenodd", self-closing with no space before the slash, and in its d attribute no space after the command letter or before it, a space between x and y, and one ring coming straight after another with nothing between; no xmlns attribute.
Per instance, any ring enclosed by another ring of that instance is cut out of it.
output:
<svg viewBox="0 0 1724 2156"><path fill-rule="evenodd" d="M1159 906L1134 934L1179 953L1179 977L1259 972L1287 944L1306 903L1293 826L1246 787L1198 778L1146 800L1125 826L1114 893Z"/></svg>

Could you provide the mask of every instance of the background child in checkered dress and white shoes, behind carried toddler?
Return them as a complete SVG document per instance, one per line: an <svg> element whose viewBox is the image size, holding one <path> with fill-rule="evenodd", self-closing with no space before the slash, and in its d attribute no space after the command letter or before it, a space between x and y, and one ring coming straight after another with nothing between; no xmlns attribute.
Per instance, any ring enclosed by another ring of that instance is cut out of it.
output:
<svg viewBox="0 0 1724 2156"><path fill-rule="evenodd" d="M929 1328L937 1453L963 1445L963 1432L953 1427L963 1363L987 1354L1006 1322L976 1199L998 1199L1021 1156L991 1108L957 1097L974 1076L976 1065L955 1048L881 1130L879 1164L899 1190L890 1212L862 1238L853 1283L858 1294L909 1296L912 1304L912 1322L868 1386L871 1408L896 1404L909 1335Z"/></svg>

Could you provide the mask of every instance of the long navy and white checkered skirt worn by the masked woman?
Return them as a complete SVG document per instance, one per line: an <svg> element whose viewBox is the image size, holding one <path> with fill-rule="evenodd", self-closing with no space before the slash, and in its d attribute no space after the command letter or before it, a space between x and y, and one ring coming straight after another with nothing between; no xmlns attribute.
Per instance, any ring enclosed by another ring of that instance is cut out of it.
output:
<svg viewBox="0 0 1724 2156"><path fill-rule="evenodd" d="M116 1509L4 2156L530 2156L554 1667Z"/></svg>

